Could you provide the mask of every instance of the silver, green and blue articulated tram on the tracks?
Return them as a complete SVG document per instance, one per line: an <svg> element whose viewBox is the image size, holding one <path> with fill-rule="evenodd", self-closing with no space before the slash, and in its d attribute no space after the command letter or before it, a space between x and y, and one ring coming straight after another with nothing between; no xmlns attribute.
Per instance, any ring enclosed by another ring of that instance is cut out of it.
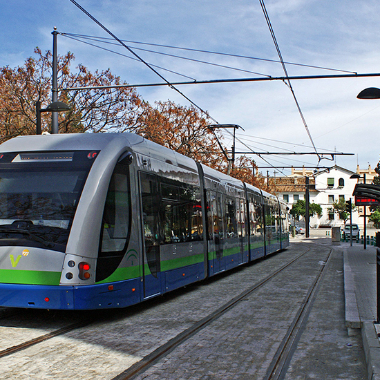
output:
<svg viewBox="0 0 380 380"><path fill-rule="evenodd" d="M287 245L276 196L139 135L0 145L0 306L126 307Z"/></svg>

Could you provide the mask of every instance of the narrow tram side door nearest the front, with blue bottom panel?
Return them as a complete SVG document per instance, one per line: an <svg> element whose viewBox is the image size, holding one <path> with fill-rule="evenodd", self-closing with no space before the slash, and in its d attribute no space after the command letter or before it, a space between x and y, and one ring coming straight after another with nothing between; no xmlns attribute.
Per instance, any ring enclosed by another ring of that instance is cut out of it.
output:
<svg viewBox="0 0 380 380"><path fill-rule="evenodd" d="M140 172L144 260L142 266L144 298L161 290L160 272L160 193L155 175Z"/></svg>

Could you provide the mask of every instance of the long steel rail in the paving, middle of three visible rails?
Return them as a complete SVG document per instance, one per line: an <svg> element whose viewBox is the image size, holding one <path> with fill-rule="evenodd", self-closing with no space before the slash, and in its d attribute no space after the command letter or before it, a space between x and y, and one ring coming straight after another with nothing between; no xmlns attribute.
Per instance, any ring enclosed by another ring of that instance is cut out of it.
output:
<svg viewBox="0 0 380 380"><path fill-rule="evenodd" d="M292 265L303 255L307 254L308 251L310 251L310 248L307 248L302 254L299 254L298 256L296 256L296 258L290 260L288 263L286 263L279 269L276 269L276 271L272 272L272 274L269 274L262 281L259 281L255 285L252 285L251 287L246 289L244 292L240 293L235 298L232 298L231 301L225 303L211 314L205 316L205 318L194 323L191 327L187 328L187 330L184 330L174 338L170 339L169 341L167 341L167 343L164 343L159 348L146 355L146 357L143 357L140 361L137 361L136 363L131 365L131 367L127 368L117 376L113 377L113 379L111 380L129 380L132 377L135 377L135 375L144 372L153 363L165 357L167 354L169 354L169 352L173 351L176 347L184 343L184 341L189 339L191 336L198 334L200 330L204 329L211 322L216 321L216 319L222 316L222 314L225 314L226 312L231 310L231 308L236 306L236 304L242 301L242 299L245 298L247 295L251 294L252 292L254 292L254 290L262 287L263 285L265 285L265 283L272 280L272 278L274 278L277 274L279 274L284 269Z"/></svg>

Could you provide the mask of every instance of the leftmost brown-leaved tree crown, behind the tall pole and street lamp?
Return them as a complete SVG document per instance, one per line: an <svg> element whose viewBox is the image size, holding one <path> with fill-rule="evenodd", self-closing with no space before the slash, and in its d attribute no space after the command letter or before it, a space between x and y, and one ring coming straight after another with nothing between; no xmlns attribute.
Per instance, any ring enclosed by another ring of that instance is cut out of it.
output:
<svg viewBox="0 0 380 380"><path fill-rule="evenodd" d="M37 59L26 59L23 66L0 68L0 142L17 135L34 134L36 130L35 103L45 108L50 101L51 53L42 55L35 49ZM109 86L121 84L110 70L95 73L79 64L76 73L70 71L74 60L71 53L57 59L58 88ZM142 112L142 99L133 88L61 91L59 100L70 106L70 111L59 113L59 132L126 131L136 125ZM42 131L48 131L50 115L41 114Z"/></svg>

